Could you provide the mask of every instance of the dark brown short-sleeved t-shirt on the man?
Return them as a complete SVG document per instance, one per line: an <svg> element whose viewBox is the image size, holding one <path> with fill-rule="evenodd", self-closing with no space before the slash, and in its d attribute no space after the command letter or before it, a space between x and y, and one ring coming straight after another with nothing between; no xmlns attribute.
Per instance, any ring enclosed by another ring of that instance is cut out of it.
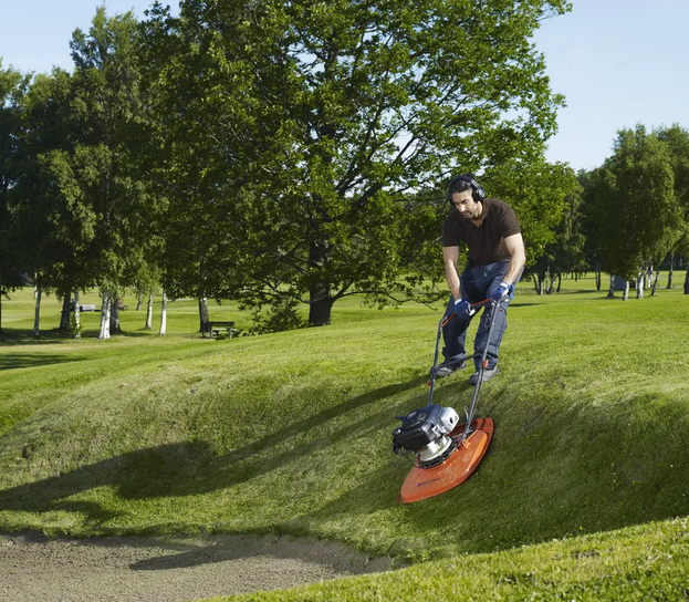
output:
<svg viewBox="0 0 689 602"><path fill-rule="evenodd" d="M442 222L442 246L459 247L460 242L466 242L469 249L469 267L508 259L510 253L504 239L522 231L514 210L504 200L486 198L481 204L481 226L462 217L457 209L452 209Z"/></svg>

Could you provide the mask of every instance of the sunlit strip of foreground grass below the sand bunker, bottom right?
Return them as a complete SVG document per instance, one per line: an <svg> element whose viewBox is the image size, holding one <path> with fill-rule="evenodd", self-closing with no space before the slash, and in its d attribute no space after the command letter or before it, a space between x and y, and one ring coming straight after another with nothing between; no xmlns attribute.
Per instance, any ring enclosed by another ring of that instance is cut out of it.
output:
<svg viewBox="0 0 689 602"><path fill-rule="evenodd" d="M687 600L689 521L651 522L228 601Z"/></svg>

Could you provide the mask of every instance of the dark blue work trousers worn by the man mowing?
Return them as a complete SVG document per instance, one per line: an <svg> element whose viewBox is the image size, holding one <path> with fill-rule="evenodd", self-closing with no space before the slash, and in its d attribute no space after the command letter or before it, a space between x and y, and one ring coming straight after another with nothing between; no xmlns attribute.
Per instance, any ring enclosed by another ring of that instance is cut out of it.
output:
<svg viewBox="0 0 689 602"><path fill-rule="evenodd" d="M464 269L459 277L462 298L469 301L469 303L478 303L479 301L490 298L493 291L500 286L500 282L502 282L509 263L510 260L504 259L498 263L488 263L487 266ZM519 281L519 278L514 281L514 284L516 281ZM510 292L512 292L512 290L513 287ZM477 371L481 365L481 356L483 355L483 350L487 344L488 354L486 359L488 360L488 370L494 369L498 364L498 352L500 351L504 331L508 328L508 305L510 304L511 298L512 295L510 294L510 297L501 301L495 308L495 325L493 326L490 341L488 341L488 331L490 329L491 308L488 305L483 309L479 330L473 340L473 352L474 354L479 354L479 357L473 359L473 365ZM450 301L448 302L445 314L451 315L452 313L455 313L455 299L450 295ZM477 315L477 313L473 315ZM442 329L442 340L445 342L442 355L445 356L445 365L456 367L466 360L467 352L464 349L464 341L467 339L467 329L473 315L455 315Z"/></svg>

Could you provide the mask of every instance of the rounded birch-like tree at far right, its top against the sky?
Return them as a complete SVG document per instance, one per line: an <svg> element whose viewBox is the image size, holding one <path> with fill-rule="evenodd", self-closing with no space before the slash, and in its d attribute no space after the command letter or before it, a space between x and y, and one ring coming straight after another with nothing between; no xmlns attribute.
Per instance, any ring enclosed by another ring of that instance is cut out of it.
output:
<svg viewBox="0 0 689 602"><path fill-rule="evenodd" d="M638 280L681 236L668 145L643 125L622 129L599 175L594 210L605 267L626 281Z"/></svg>

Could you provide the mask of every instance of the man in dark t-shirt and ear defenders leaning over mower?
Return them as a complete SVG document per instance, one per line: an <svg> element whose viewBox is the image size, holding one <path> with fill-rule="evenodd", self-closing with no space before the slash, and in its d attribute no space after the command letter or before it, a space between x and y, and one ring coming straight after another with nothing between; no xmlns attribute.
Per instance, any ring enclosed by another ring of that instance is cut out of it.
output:
<svg viewBox="0 0 689 602"><path fill-rule="evenodd" d="M508 328L508 305L526 261L524 241L514 210L503 200L486 198L473 174L457 176L450 183L448 197L452 212L442 224L442 257L451 293L446 315L455 313L455 316L442 329L445 361L436 375L449 376L466 367L464 340L474 313L471 303L491 298L498 303L491 340L488 341L487 308L473 343L474 353L480 355L488 345L488 366L482 378L488 381L498 374L498 352ZM460 242L469 249L461 277L458 269ZM469 377L472 384L478 381L480 362L480 357L473 359L476 372Z"/></svg>

